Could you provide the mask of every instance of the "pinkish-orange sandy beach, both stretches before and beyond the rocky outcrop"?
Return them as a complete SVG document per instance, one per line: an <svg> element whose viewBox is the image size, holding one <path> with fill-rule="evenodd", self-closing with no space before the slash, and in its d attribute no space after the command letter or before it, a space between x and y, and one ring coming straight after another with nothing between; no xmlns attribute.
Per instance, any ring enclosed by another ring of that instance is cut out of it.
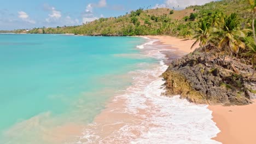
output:
<svg viewBox="0 0 256 144"><path fill-rule="evenodd" d="M146 37L159 39L162 44L171 45L184 53L193 52L190 49L195 40L184 40L170 36L152 36ZM256 100L254 100L256 102ZM213 121L221 132L214 137L214 140L223 144L254 144L256 143L256 103L245 106L209 106L212 110Z"/></svg>

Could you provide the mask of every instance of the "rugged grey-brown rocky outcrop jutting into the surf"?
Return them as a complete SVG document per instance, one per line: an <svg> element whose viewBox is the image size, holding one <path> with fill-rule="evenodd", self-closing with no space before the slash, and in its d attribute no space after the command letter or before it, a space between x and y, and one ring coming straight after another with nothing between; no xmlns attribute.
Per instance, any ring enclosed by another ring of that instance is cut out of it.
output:
<svg viewBox="0 0 256 144"><path fill-rule="evenodd" d="M247 105L255 98L252 65L241 59L195 51L173 60L162 74L165 95L181 95L197 104Z"/></svg>

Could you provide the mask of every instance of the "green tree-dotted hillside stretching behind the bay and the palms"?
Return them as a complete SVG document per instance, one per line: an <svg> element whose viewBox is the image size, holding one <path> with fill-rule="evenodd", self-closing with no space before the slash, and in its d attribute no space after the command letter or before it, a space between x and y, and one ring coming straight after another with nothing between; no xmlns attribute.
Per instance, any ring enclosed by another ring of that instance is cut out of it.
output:
<svg viewBox="0 0 256 144"><path fill-rule="evenodd" d="M237 13L242 27L251 27L251 9L248 0L224 0L201 6L190 6L184 10L167 8L138 9L118 17L101 18L82 26L34 28L26 33L74 33L83 35L176 35L191 37L197 21L205 17ZM17 31L25 32L24 29Z"/></svg>

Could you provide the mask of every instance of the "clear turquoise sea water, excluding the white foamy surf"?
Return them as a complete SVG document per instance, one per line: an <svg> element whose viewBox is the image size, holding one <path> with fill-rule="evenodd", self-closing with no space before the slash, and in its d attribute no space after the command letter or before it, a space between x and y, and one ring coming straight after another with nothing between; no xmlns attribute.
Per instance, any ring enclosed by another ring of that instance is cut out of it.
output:
<svg viewBox="0 0 256 144"><path fill-rule="evenodd" d="M155 62L137 55L145 41L0 34L0 143L32 143L45 129L92 122L109 98L131 85L129 71Z"/></svg>

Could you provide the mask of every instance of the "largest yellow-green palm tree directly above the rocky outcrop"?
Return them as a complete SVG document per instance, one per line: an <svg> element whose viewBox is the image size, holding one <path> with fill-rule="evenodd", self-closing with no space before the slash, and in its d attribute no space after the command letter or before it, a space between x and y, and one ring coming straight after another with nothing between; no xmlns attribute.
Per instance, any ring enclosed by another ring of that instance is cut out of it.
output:
<svg viewBox="0 0 256 144"><path fill-rule="evenodd" d="M237 14L232 13L230 16L224 17L223 31L219 32L223 35L220 39L219 48L224 49L223 63L225 62L226 55L236 54L240 48L245 49L246 45L242 42L241 38L245 38L249 29L239 30L240 20Z"/></svg>

